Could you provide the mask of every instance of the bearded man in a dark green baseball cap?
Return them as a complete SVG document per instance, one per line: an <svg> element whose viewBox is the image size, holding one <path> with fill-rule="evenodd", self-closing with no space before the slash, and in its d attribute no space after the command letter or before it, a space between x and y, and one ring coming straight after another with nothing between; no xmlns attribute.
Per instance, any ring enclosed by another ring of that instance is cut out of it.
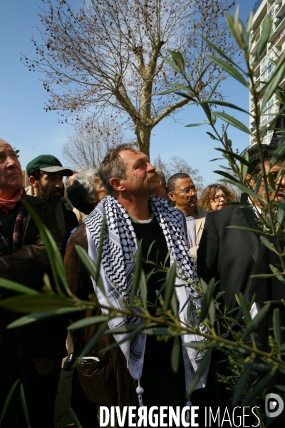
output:
<svg viewBox="0 0 285 428"><path fill-rule="evenodd" d="M64 196L63 176L73 175L73 170L64 168L55 156L40 155L26 165L26 173L32 187L31 194L49 203L56 213L64 254L71 230L78 225L76 215L61 201Z"/></svg>

